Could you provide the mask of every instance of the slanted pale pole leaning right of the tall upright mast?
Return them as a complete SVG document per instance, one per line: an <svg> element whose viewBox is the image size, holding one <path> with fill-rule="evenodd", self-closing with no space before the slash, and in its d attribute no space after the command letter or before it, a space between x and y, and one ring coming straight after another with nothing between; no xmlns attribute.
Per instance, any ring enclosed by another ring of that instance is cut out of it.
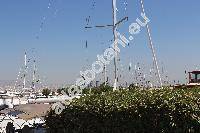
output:
<svg viewBox="0 0 200 133"><path fill-rule="evenodd" d="M143 0L140 0L140 3L141 3L141 8L142 8L142 13L145 15ZM157 62L157 58L156 58L156 52L155 52L155 49L154 49L154 45L153 45L153 41L152 41L152 37L151 37L151 31L150 31L150 27L149 27L148 23L146 24L146 29L147 29L147 33L148 33L149 45L150 45L150 48L151 48L151 51L152 51L152 54L153 54L153 61L156 65L156 71L157 71L157 74L158 74L160 86L162 88L162 86L163 86L162 79L161 79L161 76L160 76L160 71L159 71L158 62Z"/></svg>

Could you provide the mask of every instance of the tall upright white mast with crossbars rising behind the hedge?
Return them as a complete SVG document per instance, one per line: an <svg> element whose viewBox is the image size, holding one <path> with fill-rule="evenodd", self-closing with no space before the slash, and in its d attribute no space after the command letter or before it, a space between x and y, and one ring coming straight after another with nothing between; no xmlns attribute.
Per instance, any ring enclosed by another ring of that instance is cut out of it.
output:
<svg viewBox="0 0 200 133"><path fill-rule="evenodd" d="M117 89L117 0L112 0L112 11L113 11L113 36L114 36L114 50L115 50L115 58L114 58L114 71L115 71L115 75L114 75L114 88L113 90Z"/></svg>

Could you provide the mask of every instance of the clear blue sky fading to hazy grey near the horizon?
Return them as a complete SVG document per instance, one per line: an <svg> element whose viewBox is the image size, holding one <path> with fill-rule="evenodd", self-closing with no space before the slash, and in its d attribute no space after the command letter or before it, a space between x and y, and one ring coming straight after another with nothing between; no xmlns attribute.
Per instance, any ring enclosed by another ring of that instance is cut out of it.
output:
<svg viewBox="0 0 200 133"><path fill-rule="evenodd" d="M144 4L160 67L171 80L184 82L185 70L200 69L200 1L144 0ZM117 9L118 20L129 17L118 28L128 35L129 25L140 17L140 2L117 0ZM89 16L89 26L112 24L111 0L1 0L0 80L17 78L26 51L29 58L35 57L38 72L48 83L73 83L113 39L110 28L85 29ZM124 69L130 62L152 64L145 29L122 49L120 58Z"/></svg>

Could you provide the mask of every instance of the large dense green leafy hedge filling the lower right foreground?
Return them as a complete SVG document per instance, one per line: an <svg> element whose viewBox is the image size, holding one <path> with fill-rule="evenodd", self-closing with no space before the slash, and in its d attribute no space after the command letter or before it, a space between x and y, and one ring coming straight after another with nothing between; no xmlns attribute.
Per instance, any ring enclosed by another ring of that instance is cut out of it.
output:
<svg viewBox="0 0 200 133"><path fill-rule="evenodd" d="M46 116L49 132L198 133L200 89L121 90L75 99Z"/></svg>

